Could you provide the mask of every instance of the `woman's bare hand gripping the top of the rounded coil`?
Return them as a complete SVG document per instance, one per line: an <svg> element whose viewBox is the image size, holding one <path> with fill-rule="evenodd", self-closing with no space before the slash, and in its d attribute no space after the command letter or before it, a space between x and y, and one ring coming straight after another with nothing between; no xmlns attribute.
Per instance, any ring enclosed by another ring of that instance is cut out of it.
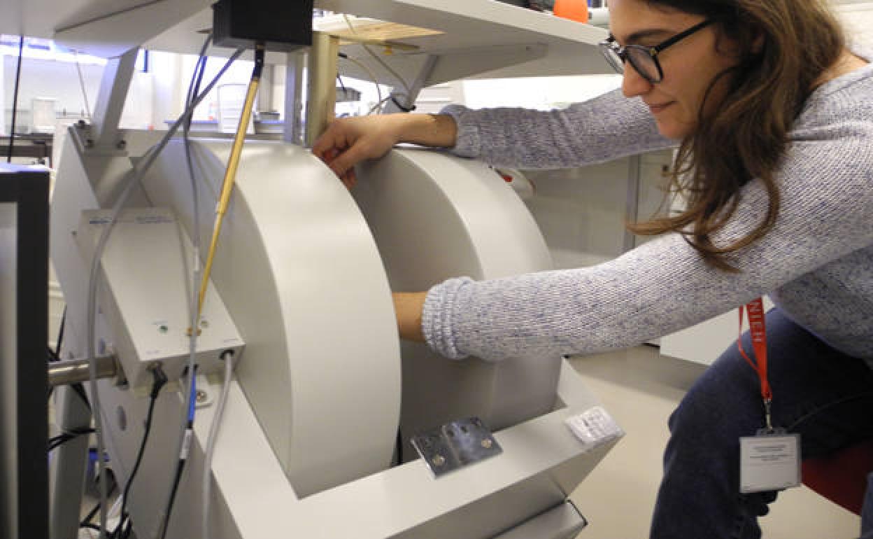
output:
<svg viewBox="0 0 873 539"><path fill-rule="evenodd" d="M445 114L354 116L332 121L313 144L313 154L351 188L357 181L354 165L382 157L397 142L447 148L456 136L455 120Z"/></svg>

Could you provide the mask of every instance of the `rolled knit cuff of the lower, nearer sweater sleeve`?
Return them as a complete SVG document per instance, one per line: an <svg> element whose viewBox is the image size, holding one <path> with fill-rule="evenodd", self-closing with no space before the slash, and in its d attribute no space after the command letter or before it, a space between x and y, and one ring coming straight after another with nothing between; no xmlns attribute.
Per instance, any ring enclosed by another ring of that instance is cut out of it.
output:
<svg viewBox="0 0 873 539"><path fill-rule="evenodd" d="M468 356L457 349L457 339L452 327L452 314L456 308L458 293L473 280L469 277L446 280L432 287L424 300L422 310L422 333L430 349L450 359Z"/></svg>

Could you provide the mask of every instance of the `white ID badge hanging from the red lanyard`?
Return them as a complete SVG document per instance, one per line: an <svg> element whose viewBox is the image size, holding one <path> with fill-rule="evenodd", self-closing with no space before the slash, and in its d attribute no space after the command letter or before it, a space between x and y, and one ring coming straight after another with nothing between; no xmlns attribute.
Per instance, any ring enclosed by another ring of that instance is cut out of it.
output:
<svg viewBox="0 0 873 539"><path fill-rule="evenodd" d="M739 439L739 492L798 487L801 484L801 435L759 431Z"/></svg>

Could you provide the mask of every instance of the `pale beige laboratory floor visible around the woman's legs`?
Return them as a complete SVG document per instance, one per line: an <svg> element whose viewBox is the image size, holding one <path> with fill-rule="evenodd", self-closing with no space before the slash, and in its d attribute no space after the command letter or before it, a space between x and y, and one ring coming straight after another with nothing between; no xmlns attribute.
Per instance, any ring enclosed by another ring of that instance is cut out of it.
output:
<svg viewBox="0 0 873 539"><path fill-rule="evenodd" d="M704 367L649 346L576 358L574 367L627 432L572 496L590 522L579 539L647 537L667 418ZM807 487L780 494L760 522L764 539L850 539L860 526Z"/></svg>

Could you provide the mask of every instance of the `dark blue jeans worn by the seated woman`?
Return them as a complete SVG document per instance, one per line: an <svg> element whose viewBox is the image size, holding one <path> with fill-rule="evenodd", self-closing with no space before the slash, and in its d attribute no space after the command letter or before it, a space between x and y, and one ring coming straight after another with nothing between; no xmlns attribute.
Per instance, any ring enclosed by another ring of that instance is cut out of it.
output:
<svg viewBox="0 0 873 539"><path fill-rule="evenodd" d="M766 316L773 426L801 433L803 457L873 437L873 371L828 347L780 310ZM743 349L752 354L749 335ZM734 345L670 417L652 539L758 539L776 492L739 494L739 437L764 425L757 374Z"/></svg>

